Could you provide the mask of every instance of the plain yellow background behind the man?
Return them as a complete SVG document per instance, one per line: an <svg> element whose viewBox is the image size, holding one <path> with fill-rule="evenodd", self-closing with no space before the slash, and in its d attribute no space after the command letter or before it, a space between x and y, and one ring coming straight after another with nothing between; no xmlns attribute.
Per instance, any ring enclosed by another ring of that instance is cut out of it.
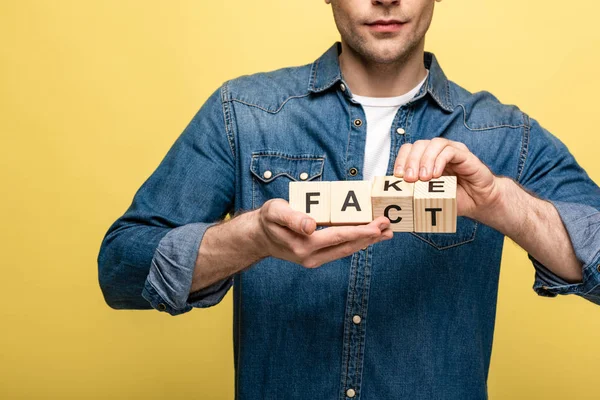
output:
<svg viewBox="0 0 600 400"><path fill-rule="evenodd" d="M600 182L598 2L436 7L426 48L450 79L519 105ZM338 37L322 0L0 1L0 398L233 397L231 294L112 310L100 242L223 81ZM537 297L526 254L504 255L490 398L598 398L600 308Z"/></svg>

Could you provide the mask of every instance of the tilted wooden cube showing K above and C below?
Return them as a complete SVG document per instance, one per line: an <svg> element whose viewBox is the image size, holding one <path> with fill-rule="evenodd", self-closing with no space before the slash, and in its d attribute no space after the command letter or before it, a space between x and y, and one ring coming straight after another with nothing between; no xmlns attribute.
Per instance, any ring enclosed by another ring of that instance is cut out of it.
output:
<svg viewBox="0 0 600 400"><path fill-rule="evenodd" d="M412 232L415 184L395 176L376 176L371 188L373 219L383 215L394 232Z"/></svg>

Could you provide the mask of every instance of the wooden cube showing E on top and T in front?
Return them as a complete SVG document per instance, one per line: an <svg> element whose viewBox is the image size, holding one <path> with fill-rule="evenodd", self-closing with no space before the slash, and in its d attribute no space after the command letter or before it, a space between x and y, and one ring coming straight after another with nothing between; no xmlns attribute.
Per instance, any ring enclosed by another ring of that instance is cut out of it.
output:
<svg viewBox="0 0 600 400"><path fill-rule="evenodd" d="M456 232L456 177L415 182L415 232Z"/></svg>

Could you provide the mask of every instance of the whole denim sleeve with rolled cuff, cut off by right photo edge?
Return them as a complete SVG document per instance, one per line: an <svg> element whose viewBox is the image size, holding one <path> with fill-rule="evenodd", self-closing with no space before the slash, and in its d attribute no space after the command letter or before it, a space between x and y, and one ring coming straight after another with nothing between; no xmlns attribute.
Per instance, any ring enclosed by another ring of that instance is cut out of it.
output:
<svg viewBox="0 0 600 400"><path fill-rule="evenodd" d="M529 255L533 290L545 297L575 294L600 305L600 188L558 138L530 121L518 182L554 205L582 264L582 281L570 283Z"/></svg>

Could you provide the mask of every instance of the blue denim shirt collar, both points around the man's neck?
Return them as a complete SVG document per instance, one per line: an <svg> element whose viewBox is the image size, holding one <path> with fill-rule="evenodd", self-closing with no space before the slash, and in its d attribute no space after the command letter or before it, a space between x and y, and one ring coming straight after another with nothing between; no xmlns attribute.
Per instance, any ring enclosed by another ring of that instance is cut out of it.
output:
<svg viewBox="0 0 600 400"><path fill-rule="evenodd" d="M335 83L342 81L338 56L342 51L341 42L335 42L321 57L311 66L308 90L319 93L329 89ZM442 71L433 53L425 52L423 58L425 68L429 70L429 76L424 87L413 99L417 100L429 93L435 102L444 110L452 112L454 106L450 96L450 85L448 78Z"/></svg>

